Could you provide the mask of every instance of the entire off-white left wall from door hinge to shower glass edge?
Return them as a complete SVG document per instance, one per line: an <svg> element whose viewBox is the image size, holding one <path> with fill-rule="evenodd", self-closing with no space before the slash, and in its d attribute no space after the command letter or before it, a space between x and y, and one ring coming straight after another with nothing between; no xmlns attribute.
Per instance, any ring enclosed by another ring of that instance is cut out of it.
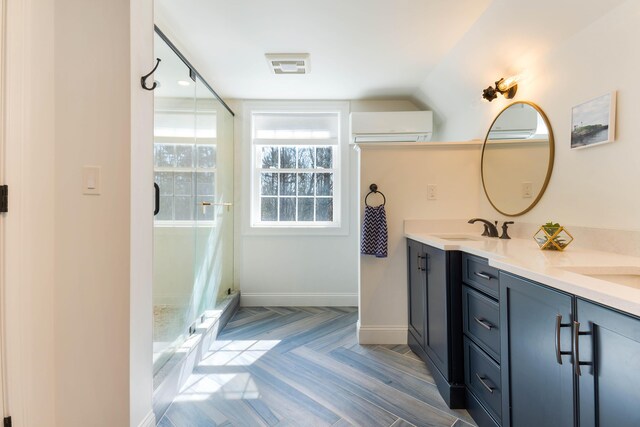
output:
<svg viewBox="0 0 640 427"><path fill-rule="evenodd" d="M151 409L153 104L132 88L152 64L152 3L8 3L7 413L137 426ZM85 164L102 166L102 195L81 195Z"/></svg>

